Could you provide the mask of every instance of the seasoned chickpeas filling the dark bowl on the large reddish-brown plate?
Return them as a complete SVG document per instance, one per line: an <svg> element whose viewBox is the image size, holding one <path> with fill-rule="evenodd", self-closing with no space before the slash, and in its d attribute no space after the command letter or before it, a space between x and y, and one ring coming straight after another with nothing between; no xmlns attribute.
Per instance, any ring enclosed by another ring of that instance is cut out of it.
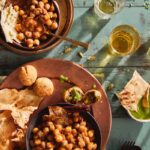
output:
<svg viewBox="0 0 150 150"><path fill-rule="evenodd" d="M79 112L58 106L49 107L49 115L32 129L32 150L97 150L95 133Z"/></svg>

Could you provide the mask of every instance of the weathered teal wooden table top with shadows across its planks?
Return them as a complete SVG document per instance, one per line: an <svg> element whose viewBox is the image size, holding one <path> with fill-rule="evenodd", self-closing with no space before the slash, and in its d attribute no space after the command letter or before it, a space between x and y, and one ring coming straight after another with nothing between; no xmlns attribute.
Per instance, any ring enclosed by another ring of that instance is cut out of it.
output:
<svg viewBox="0 0 150 150"><path fill-rule="evenodd" d="M52 51L34 56L19 56L0 46L0 75L8 75L19 65L39 58L61 58L82 64L94 74L109 96L113 124L107 144L108 150L117 150L126 140L134 140L143 150L150 149L150 123L139 123L129 118L120 106L115 93L121 90L137 70L150 82L150 8L149 0L128 0L126 7L109 20L99 19L93 12L93 0L74 0L74 23L68 35L90 42L88 50L62 42ZM135 26L141 34L139 50L126 57L108 54L108 37L120 24ZM111 87L111 90L110 90Z"/></svg>

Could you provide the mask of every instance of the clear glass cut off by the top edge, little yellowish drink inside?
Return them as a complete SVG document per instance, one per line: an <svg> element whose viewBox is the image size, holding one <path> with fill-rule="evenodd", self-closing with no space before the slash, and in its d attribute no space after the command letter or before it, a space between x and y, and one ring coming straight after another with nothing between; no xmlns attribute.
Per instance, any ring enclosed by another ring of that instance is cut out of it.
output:
<svg viewBox="0 0 150 150"><path fill-rule="evenodd" d="M125 1L126 0L95 0L95 13L102 19L109 19L124 7Z"/></svg>

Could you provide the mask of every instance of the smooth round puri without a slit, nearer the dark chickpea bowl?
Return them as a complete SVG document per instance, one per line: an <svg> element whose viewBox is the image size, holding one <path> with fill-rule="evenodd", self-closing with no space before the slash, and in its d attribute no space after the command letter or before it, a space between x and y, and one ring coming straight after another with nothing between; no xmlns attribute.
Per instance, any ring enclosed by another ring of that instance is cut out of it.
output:
<svg viewBox="0 0 150 150"><path fill-rule="evenodd" d="M50 96L54 91L54 86L50 79L42 77L36 80L33 90L38 96Z"/></svg>

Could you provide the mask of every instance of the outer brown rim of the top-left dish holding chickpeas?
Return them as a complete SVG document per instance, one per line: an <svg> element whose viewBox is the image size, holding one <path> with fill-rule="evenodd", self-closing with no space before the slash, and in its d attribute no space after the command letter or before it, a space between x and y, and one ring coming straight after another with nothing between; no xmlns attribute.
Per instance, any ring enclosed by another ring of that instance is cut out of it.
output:
<svg viewBox="0 0 150 150"><path fill-rule="evenodd" d="M69 0L69 5L67 5L67 7L69 7L70 9L70 16L69 16L69 21L66 22L65 26L67 26L67 28L65 28L65 31L63 32L63 36L66 37L67 34L69 33L71 26L73 24L73 18L74 18L74 5L73 5L73 0ZM57 39L57 38L56 38ZM8 51L12 51L14 53L20 54L20 55L24 55L24 56L31 56L34 54L41 54L41 53L46 53L50 50L52 50L53 48L55 48L56 46L58 46L63 40L62 39L58 39L56 42L54 42L52 45L47 45L45 48L43 49L38 49L38 50L25 50L25 49L19 49L15 46L13 46L10 43L7 43L5 40L3 40L2 38L0 38L0 44L2 44L4 47L7 48Z"/></svg>

